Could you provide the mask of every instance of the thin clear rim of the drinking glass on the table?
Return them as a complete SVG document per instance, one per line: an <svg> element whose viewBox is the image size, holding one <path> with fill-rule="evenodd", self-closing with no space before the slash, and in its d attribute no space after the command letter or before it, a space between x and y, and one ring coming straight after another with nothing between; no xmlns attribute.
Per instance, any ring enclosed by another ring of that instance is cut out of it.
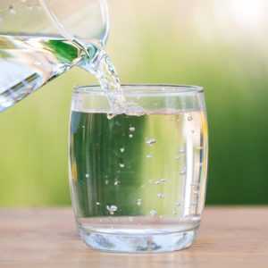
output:
<svg viewBox="0 0 268 268"><path fill-rule="evenodd" d="M108 91L99 85L76 86L74 95L123 95L123 96L195 96L204 93L200 86L180 84L121 84L121 91Z"/></svg>

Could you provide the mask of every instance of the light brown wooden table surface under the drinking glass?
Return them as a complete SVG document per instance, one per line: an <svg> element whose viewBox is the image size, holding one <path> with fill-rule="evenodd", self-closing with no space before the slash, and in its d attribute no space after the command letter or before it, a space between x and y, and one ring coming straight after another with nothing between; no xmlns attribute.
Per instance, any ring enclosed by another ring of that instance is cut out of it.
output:
<svg viewBox="0 0 268 268"><path fill-rule="evenodd" d="M0 267L268 267L268 207L206 207L191 247L146 255L86 247L71 208L1 209Z"/></svg>

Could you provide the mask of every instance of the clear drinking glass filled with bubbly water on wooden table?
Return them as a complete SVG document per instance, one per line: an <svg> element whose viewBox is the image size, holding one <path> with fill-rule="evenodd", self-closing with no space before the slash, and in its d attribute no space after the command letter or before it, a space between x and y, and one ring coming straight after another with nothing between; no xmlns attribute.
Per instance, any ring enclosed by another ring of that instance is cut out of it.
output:
<svg viewBox="0 0 268 268"><path fill-rule="evenodd" d="M203 88L75 88L70 185L80 237L113 252L189 247L205 203L207 121ZM123 105L111 105L117 99Z"/></svg>

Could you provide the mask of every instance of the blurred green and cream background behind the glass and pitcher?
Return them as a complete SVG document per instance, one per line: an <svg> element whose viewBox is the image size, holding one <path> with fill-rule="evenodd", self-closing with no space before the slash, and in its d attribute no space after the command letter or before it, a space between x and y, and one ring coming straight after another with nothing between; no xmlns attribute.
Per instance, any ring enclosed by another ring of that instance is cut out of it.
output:
<svg viewBox="0 0 268 268"><path fill-rule="evenodd" d="M110 0L107 52L123 83L205 88L206 204L268 204L266 0ZM70 205L71 90L96 83L74 68L0 114L0 205Z"/></svg>

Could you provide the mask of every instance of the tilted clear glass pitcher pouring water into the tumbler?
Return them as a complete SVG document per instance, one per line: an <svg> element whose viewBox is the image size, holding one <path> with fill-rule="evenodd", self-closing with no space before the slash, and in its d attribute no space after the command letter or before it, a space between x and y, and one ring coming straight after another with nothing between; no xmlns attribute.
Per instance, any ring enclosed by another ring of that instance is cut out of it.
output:
<svg viewBox="0 0 268 268"><path fill-rule="evenodd" d="M85 69L108 26L105 0L1 0L0 112L72 66Z"/></svg>

